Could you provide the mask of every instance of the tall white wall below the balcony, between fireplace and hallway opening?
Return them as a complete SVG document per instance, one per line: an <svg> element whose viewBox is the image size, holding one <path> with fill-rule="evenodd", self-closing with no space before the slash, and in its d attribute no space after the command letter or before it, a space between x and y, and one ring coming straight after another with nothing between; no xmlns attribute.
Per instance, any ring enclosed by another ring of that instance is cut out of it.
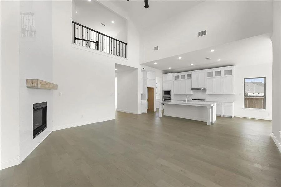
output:
<svg viewBox="0 0 281 187"><path fill-rule="evenodd" d="M71 44L71 1L53 2L53 79L59 87L54 92L53 130L115 118L118 59Z"/></svg>

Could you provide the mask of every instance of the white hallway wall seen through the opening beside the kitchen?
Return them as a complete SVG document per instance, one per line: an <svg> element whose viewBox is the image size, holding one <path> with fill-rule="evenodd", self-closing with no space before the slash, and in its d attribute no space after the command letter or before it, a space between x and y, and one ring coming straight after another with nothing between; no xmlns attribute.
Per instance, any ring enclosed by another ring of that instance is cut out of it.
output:
<svg viewBox="0 0 281 187"><path fill-rule="evenodd" d="M138 69L117 73L117 111L138 114Z"/></svg>

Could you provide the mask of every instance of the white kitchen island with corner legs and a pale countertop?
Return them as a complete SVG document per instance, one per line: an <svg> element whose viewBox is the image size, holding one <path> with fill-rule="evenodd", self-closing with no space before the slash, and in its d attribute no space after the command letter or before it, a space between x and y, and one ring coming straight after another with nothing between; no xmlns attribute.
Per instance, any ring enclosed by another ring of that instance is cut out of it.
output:
<svg viewBox="0 0 281 187"><path fill-rule="evenodd" d="M161 101L159 117L162 117L162 104L165 105L164 115L207 122L211 125L216 121L216 102L207 101Z"/></svg>

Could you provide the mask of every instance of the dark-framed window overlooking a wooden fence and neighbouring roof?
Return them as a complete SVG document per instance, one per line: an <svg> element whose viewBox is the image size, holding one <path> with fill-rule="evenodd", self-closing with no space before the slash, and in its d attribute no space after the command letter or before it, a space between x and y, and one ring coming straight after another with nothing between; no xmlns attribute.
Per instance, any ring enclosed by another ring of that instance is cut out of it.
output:
<svg viewBox="0 0 281 187"><path fill-rule="evenodd" d="M265 109L265 77L244 79L244 108Z"/></svg>

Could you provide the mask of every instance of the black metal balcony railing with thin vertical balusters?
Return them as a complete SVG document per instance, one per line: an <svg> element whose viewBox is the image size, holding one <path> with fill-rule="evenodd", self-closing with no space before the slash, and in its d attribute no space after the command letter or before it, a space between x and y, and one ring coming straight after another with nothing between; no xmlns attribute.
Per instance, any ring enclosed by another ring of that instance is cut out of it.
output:
<svg viewBox="0 0 281 187"><path fill-rule="evenodd" d="M127 58L127 43L72 21L72 42L91 49Z"/></svg>

